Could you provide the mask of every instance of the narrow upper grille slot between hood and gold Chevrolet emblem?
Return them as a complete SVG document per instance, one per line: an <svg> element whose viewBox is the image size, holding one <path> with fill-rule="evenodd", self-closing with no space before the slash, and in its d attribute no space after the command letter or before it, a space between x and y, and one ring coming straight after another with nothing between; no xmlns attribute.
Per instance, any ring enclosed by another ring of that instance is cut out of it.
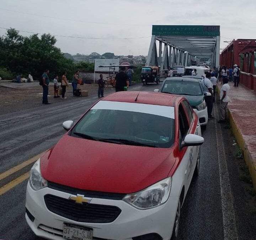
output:
<svg viewBox="0 0 256 240"><path fill-rule="evenodd" d="M48 182L48 187L61 192L67 192L73 195L81 194L81 195L84 195L85 197L90 197L90 198L122 200L125 196L125 194L122 194L122 193L107 193L107 192L81 190L78 188L64 186L54 182Z"/></svg>

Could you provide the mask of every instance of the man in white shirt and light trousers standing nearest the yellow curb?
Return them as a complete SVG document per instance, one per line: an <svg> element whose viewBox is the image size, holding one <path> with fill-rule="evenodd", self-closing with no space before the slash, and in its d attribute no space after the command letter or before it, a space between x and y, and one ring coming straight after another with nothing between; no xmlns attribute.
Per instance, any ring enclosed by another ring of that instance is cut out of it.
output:
<svg viewBox="0 0 256 240"><path fill-rule="evenodd" d="M228 92L229 92L230 86L228 84L228 79L223 79L223 86L220 90L220 120L218 123L224 123L225 120L228 119Z"/></svg>

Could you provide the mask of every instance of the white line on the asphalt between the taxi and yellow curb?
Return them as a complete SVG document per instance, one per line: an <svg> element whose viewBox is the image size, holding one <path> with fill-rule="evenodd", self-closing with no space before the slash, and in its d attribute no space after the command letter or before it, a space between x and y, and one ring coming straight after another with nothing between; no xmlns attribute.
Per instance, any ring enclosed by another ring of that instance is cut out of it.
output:
<svg viewBox="0 0 256 240"><path fill-rule="evenodd" d="M215 117L219 119L219 112L217 110L217 104L214 104ZM226 162L226 155L223 144L222 130L220 123L216 123L214 120L216 139L217 139L217 151L219 161L219 176L220 176L220 192L222 197L222 215L223 215L223 229L224 240L238 240L238 233L236 230L236 220L234 211L234 199L231 192L228 167Z"/></svg>

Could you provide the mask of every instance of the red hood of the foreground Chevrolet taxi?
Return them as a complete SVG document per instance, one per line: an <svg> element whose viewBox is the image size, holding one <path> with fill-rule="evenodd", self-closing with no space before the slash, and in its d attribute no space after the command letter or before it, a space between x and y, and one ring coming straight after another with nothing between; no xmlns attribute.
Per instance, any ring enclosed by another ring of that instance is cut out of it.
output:
<svg viewBox="0 0 256 240"><path fill-rule="evenodd" d="M40 162L54 183L100 192L134 193L166 178L173 148L98 142L64 135Z"/></svg>

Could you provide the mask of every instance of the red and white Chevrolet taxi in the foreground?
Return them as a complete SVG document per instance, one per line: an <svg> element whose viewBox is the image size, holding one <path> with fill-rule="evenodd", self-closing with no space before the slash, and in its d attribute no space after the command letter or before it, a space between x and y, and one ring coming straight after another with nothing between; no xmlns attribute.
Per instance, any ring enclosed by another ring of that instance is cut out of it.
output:
<svg viewBox="0 0 256 240"><path fill-rule="evenodd" d="M176 239L204 141L183 97L102 98L31 169L26 220L46 239Z"/></svg>

